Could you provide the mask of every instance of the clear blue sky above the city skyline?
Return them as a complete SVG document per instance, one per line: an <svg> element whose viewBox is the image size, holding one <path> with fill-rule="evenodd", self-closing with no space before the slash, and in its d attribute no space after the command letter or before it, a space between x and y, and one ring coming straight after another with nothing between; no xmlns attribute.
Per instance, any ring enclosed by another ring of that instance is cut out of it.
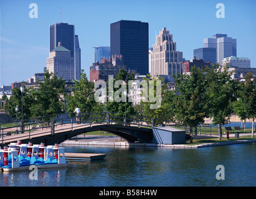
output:
<svg viewBox="0 0 256 199"><path fill-rule="evenodd" d="M225 18L216 17L216 4L225 6ZM38 18L29 17L29 4L38 6ZM120 20L149 23L149 47L155 30L166 27L177 50L190 60L203 39L215 33L237 39L237 57L249 57L256 67L256 1L188 0L1 0L0 85L27 80L43 72L49 57L49 25L67 21L75 24L81 48L82 69L89 78L93 47L110 45L110 24Z"/></svg>

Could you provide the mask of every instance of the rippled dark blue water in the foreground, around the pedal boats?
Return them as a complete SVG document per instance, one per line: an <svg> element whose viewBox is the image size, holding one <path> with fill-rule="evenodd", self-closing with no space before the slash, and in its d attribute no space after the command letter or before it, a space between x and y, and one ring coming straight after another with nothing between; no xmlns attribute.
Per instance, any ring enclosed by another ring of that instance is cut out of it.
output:
<svg viewBox="0 0 256 199"><path fill-rule="evenodd" d="M256 186L256 144L168 149L155 147L64 146L65 152L107 154L105 160L69 162L65 169L39 169L0 174L5 186ZM217 165L225 180L217 180Z"/></svg>

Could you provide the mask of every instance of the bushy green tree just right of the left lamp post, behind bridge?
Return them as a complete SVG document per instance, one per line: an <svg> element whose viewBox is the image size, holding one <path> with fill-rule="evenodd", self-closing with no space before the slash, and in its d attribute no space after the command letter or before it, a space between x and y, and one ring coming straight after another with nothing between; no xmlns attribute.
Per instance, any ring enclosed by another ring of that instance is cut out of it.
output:
<svg viewBox="0 0 256 199"><path fill-rule="evenodd" d="M31 90L31 94L36 100L36 103L31 106L31 113L34 117L62 113L61 98L65 96L65 81L47 71L44 73L44 81L39 83L38 88Z"/></svg>

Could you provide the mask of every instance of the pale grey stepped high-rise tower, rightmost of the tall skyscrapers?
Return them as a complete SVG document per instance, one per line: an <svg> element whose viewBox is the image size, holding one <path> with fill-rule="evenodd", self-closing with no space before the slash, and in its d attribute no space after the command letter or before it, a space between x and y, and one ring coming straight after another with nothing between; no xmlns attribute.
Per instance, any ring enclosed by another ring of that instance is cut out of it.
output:
<svg viewBox="0 0 256 199"><path fill-rule="evenodd" d="M214 34L213 38L204 39L204 48L216 48L216 60L220 65L224 58L237 56L237 40L227 34Z"/></svg>

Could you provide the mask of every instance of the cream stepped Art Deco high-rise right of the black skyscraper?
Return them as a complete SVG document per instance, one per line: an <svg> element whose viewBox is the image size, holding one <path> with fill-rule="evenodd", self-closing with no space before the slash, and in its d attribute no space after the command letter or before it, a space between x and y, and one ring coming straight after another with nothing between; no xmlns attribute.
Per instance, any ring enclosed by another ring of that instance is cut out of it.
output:
<svg viewBox="0 0 256 199"><path fill-rule="evenodd" d="M176 50L173 35L164 27L156 35L156 44L153 44L151 53L150 75L173 75L182 73L183 52Z"/></svg>

